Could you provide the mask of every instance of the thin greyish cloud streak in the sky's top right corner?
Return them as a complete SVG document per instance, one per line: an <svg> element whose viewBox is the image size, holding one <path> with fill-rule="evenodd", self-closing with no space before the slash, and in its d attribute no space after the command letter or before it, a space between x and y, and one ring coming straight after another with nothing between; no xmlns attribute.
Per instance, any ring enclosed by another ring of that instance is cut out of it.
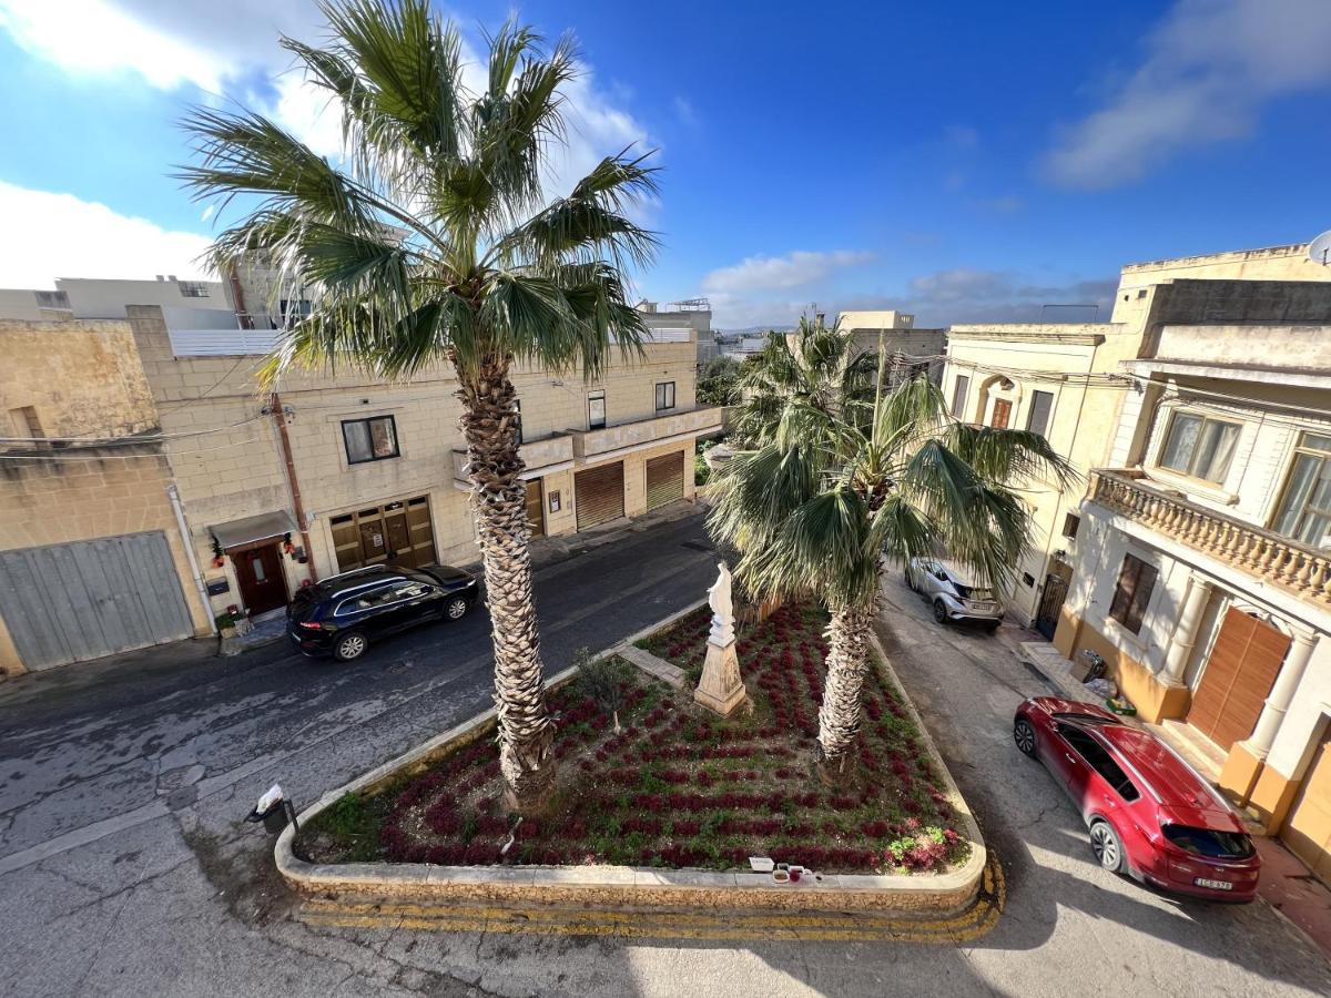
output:
<svg viewBox="0 0 1331 998"><path fill-rule="evenodd" d="M1178 153L1252 133L1286 94L1331 86L1327 0L1179 0L1142 64L1045 156L1058 184L1110 188Z"/></svg>

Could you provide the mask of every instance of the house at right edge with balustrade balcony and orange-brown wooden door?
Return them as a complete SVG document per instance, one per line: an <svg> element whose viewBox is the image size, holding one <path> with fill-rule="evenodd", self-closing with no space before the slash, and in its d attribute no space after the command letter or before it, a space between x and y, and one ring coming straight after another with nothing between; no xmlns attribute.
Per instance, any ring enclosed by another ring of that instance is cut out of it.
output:
<svg viewBox="0 0 1331 998"><path fill-rule="evenodd" d="M1260 283L1291 321L1162 323L1123 365L1054 644L1331 882L1331 287Z"/></svg>

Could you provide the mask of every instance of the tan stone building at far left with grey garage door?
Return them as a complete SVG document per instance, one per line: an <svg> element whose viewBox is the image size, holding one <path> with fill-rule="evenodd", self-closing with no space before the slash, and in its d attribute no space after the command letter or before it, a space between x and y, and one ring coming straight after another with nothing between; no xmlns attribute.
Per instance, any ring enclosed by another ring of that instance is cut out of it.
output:
<svg viewBox="0 0 1331 998"><path fill-rule="evenodd" d="M0 321L0 671L212 632L125 322Z"/></svg>

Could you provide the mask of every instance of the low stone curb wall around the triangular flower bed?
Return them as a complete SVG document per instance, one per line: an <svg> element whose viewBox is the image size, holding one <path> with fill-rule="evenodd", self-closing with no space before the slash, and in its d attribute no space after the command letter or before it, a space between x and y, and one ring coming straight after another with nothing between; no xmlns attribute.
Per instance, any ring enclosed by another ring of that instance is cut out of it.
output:
<svg viewBox="0 0 1331 998"><path fill-rule="evenodd" d="M632 635L595 657L616 653L624 645L668 627L697 609L699 601L663 621ZM888 663L886 653L872 635L870 647L878 664L900 692L921 741L942 773L952 808L961 816L972 849L966 862L942 874L876 876L825 874L809 885L777 885L767 874L715 870L662 870L640 866L435 866L431 864L310 864L295 856L295 829L287 825L277 838L273 856L282 877L309 896L335 894L362 898L417 898L447 902L502 902L574 905L582 908L671 908L759 912L894 912L902 915L937 918L956 915L973 905L980 894L988 864L988 849L970 808L938 754L937 745ZM550 689L574 677L575 668L551 676ZM446 748L483 737L495 725L496 711L486 711L470 721L375 766L351 782L325 793L297 818L303 824L342 796L374 789L402 772L421 769Z"/></svg>

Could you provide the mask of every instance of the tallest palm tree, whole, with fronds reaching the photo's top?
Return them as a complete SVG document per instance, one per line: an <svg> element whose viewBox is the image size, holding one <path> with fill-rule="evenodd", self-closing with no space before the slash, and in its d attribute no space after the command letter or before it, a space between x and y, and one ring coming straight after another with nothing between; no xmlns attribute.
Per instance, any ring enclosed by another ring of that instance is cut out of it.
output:
<svg viewBox="0 0 1331 998"><path fill-rule="evenodd" d="M623 270L655 251L627 214L655 190L630 150L602 160L567 196L543 178L564 138L563 89L578 73L570 39L546 49L504 24L488 39L483 89L463 84L457 28L429 0L322 7L321 47L282 39L306 79L342 110L343 157L330 162L253 112L200 108L186 120L200 200L257 206L222 232L213 263L256 255L313 290L266 375L350 362L410 378L437 362L457 373L471 496L495 653L500 768L510 806L539 808L554 780L531 593L530 530L518 455L512 366L580 367L647 335Z"/></svg>

